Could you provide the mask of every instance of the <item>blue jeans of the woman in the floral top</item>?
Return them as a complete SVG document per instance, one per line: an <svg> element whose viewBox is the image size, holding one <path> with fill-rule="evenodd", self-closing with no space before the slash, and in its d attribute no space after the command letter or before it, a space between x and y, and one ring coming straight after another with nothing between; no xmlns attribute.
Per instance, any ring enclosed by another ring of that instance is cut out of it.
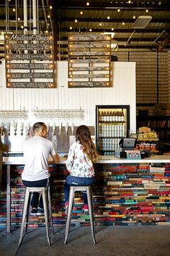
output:
<svg viewBox="0 0 170 256"><path fill-rule="evenodd" d="M88 185L92 185L95 182L95 178L94 177L89 177L89 178L84 178L84 177L77 177L77 176L71 176L68 175L66 177L66 182L64 185L64 196L65 196L65 202L68 202L68 198L69 198L69 191L70 191L70 185L73 186L88 186ZM84 195L84 204L87 205L87 197L86 197L86 193L83 193Z"/></svg>

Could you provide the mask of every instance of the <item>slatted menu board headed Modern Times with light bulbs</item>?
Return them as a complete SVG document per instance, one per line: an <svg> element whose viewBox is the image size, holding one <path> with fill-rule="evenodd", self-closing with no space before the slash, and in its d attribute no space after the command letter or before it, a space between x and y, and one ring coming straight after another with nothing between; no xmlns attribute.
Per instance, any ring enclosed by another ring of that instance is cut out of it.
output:
<svg viewBox="0 0 170 256"><path fill-rule="evenodd" d="M53 35L8 34L6 88L55 88Z"/></svg>

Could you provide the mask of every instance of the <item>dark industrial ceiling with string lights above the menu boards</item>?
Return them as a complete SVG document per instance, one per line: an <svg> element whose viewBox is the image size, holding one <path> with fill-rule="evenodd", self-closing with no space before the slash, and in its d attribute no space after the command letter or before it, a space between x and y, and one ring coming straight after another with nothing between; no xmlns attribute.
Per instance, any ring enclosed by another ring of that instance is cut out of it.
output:
<svg viewBox="0 0 170 256"><path fill-rule="evenodd" d="M112 51L169 51L169 0L35 1L37 33L54 33L55 42L65 42L65 47L73 33L110 33ZM23 13L23 0L1 0L0 33L23 33ZM32 0L27 0L27 14L31 33ZM2 38L0 54L4 54Z"/></svg>

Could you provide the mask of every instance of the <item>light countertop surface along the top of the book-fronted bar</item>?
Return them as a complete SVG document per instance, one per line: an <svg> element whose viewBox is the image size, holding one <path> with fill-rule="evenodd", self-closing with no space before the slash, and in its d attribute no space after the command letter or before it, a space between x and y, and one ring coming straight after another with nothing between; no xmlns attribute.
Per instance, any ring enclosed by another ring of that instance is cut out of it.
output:
<svg viewBox="0 0 170 256"><path fill-rule="evenodd" d="M49 164L53 163L52 158L49 159ZM58 164L65 164L66 158L61 157L61 161ZM97 163L170 163L170 155L151 155L149 158L143 158L140 160L128 160L125 158L117 158L114 155L99 155ZM9 156L3 157L4 165L24 165L23 156Z"/></svg>

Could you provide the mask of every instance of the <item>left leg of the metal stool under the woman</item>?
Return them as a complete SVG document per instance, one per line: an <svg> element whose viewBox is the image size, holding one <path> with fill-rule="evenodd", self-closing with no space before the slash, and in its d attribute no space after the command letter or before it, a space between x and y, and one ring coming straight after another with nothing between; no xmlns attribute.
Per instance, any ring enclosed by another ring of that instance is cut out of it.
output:
<svg viewBox="0 0 170 256"><path fill-rule="evenodd" d="M69 199L68 199L68 213L67 213L67 220L66 220L66 235L65 235L64 244L66 244L66 242L67 242L68 233L69 233L69 229L70 229L71 211L72 211L72 208L73 208L73 198L74 198L74 190L71 187L70 188Z"/></svg>

